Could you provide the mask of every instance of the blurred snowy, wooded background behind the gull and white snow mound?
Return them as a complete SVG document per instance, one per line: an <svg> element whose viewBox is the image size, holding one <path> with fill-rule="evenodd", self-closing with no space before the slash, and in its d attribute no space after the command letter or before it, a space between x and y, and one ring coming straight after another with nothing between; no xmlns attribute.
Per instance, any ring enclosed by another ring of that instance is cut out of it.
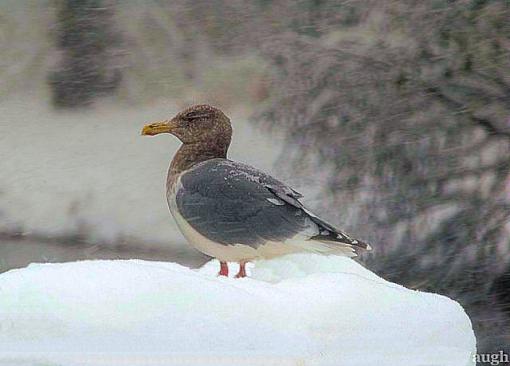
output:
<svg viewBox="0 0 510 366"><path fill-rule="evenodd" d="M0 45L0 272L204 263L166 207L178 142L139 134L210 103L231 158L510 353L508 1L3 0Z"/></svg>

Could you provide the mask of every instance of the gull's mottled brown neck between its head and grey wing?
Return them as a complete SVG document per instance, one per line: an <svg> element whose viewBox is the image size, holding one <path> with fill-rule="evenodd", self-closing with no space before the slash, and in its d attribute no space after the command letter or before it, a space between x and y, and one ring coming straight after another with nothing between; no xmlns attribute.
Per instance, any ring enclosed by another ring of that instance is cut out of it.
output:
<svg viewBox="0 0 510 366"><path fill-rule="evenodd" d="M226 158L230 139L228 141L211 140L207 142L183 144L174 155L169 177L177 177L180 173L206 160Z"/></svg>

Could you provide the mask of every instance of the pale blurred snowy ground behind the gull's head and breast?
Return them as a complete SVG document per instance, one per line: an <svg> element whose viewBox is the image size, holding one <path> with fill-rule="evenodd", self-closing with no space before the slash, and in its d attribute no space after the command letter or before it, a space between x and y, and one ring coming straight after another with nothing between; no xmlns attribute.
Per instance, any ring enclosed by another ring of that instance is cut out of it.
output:
<svg viewBox="0 0 510 366"><path fill-rule="evenodd" d="M140 136L145 123L179 109L159 103L56 113L35 99L0 102L0 231L185 243L165 199L180 143ZM234 125L230 156L271 173L279 137L254 129L249 113L226 112Z"/></svg>

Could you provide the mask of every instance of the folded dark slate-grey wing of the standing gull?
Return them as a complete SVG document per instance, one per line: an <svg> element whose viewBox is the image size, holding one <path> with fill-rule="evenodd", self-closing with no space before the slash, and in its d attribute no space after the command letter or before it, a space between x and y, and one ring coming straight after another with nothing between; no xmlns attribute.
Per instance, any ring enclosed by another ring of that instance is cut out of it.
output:
<svg viewBox="0 0 510 366"><path fill-rule="evenodd" d="M226 159L184 173L176 192L182 217L217 243L258 247L300 237L366 248L308 211L300 197L271 176Z"/></svg>

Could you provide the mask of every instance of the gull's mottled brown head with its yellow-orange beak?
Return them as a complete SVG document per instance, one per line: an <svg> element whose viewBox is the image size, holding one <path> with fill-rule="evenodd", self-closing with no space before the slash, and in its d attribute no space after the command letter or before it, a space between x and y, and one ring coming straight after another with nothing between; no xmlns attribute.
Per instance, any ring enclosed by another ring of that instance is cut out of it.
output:
<svg viewBox="0 0 510 366"><path fill-rule="evenodd" d="M218 108L207 104L194 105L175 117L145 125L142 135L171 133L184 144L230 144L232 126L228 117Z"/></svg>

